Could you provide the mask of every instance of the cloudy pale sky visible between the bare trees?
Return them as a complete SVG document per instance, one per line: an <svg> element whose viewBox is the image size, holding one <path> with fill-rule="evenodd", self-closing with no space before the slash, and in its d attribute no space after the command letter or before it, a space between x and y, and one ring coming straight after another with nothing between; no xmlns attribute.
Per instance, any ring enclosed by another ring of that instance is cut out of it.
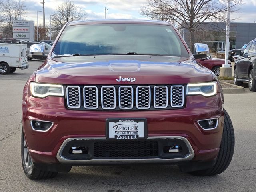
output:
<svg viewBox="0 0 256 192"><path fill-rule="evenodd" d="M22 14L24 20L34 20L37 22L37 10L42 10L42 0L24 0L26 13ZM64 0L44 0L46 24L49 24L50 14L54 14L59 4ZM73 0L76 6L83 8L88 17L86 19L104 19L104 8L107 6L109 19L146 19L139 14L140 7L146 0ZM106 10L107 12L107 10ZM256 0L244 0L244 5L240 6L239 13L231 15L238 18L235 22L256 22ZM38 13L39 24L42 24L43 14Z"/></svg>

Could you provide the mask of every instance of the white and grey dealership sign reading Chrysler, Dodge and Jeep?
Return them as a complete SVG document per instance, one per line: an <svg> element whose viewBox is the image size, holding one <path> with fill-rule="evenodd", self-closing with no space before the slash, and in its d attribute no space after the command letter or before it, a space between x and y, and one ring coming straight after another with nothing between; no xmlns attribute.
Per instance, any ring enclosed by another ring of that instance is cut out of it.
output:
<svg viewBox="0 0 256 192"><path fill-rule="evenodd" d="M13 38L17 40L35 40L34 21L14 21Z"/></svg>

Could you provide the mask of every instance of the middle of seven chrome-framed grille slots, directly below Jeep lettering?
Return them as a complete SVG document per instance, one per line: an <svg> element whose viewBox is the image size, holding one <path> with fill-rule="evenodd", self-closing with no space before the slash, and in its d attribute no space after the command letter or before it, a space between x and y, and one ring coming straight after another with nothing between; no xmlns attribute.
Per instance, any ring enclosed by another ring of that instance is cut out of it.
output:
<svg viewBox="0 0 256 192"><path fill-rule="evenodd" d="M132 109L133 108L132 86L120 86L118 90L119 90L119 108Z"/></svg>

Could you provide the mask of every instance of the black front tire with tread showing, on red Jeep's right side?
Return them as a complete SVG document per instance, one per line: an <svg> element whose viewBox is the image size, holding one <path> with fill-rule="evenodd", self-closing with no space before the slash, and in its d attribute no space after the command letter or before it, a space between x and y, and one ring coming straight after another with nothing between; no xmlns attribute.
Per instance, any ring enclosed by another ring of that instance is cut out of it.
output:
<svg viewBox="0 0 256 192"><path fill-rule="evenodd" d="M216 163L212 168L206 170L199 170L190 172L192 175L196 176L211 176L217 175L228 168L234 153L235 146L235 135L234 128L230 119L230 116L224 110L224 127L222 133L222 140L220 144L219 154L216 159Z"/></svg>

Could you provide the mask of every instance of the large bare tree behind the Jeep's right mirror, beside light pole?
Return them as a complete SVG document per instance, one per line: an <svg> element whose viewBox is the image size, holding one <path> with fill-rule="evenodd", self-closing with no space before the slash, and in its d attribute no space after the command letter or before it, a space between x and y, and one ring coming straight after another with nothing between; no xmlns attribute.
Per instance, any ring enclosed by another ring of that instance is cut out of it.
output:
<svg viewBox="0 0 256 192"><path fill-rule="evenodd" d="M202 22L225 22L227 0L147 0L140 13L152 19L170 21L190 33L190 50L193 52L194 32ZM232 0L231 12L243 0ZM164 19L163 19L164 18Z"/></svg>

